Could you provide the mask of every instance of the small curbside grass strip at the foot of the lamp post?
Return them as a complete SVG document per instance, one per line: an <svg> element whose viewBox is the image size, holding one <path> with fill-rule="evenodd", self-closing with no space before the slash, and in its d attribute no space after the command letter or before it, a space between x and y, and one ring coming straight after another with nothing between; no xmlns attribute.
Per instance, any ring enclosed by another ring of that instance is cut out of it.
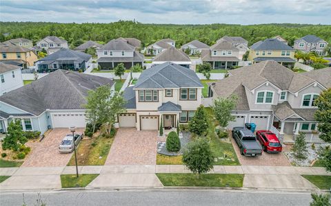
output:
<svg viewBox="0 0 331 206"><path fill-rule="evenodd" d="M63 188L68 187L86 187L99 174L80 174L77 178L76 174L61 174L61 185Z"/></svg>

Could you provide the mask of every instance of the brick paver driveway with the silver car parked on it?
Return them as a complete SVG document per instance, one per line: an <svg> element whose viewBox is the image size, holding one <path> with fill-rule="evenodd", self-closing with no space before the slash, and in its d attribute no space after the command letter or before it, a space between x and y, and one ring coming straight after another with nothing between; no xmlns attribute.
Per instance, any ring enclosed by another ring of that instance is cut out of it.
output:
<svg viewBox="0 0 331 206"><path fill-rule="evenodd" d="M83 132L84 128L77 128L77 132ZM61 167L66 166L72 153L60 153L59 144L64 136L70 134L67 128L53 129L24 161L22 167Z"/></svg>

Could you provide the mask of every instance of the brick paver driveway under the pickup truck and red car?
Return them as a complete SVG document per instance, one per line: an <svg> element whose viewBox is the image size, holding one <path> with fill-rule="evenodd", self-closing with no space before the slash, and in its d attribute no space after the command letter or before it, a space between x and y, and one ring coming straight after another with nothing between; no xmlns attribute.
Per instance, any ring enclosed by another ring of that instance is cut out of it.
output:
<svg viewBox="0 0 331 206"><path fill-rule="evenodd" d="M241 165L268 165L268 166L290 166L290 162L283 155L283 152L277 154L270 154L267 152L262 153L257 157L245 157L240 154L239 147L237 142L231 137L232 145L234 150L236 151L237 157ZM285 150L283 146L283 150Z"/></svg>

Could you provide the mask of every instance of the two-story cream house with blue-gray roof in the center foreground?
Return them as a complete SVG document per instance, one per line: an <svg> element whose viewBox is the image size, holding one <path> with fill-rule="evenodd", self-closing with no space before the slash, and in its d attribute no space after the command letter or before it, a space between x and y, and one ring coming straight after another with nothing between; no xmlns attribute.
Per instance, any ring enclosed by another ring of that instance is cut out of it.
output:
<svg viewBox="0 0 331 206"><path fill-rule="evenodd" d="M118 115L118 126L159 130L161 122L165 129L186 124L201 104L202 88L194 71L171 62L146 69L123 93L127 111Z"/></svg>

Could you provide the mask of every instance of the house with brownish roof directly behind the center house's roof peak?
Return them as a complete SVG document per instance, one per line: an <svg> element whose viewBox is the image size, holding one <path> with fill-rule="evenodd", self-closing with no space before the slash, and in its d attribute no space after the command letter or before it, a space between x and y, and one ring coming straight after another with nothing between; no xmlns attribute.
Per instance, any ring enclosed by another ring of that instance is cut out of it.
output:
<svg viewBox="0 0 331 206"><path fill-rule="evenodd" d="M161 65L164 62L173 62L176 65L181 65L186 68L190 68L192 65L192 61L188 54L185 54L185 52L176 49L175 47L165 49L163 52L152 58L152 66Z"/></svg>

